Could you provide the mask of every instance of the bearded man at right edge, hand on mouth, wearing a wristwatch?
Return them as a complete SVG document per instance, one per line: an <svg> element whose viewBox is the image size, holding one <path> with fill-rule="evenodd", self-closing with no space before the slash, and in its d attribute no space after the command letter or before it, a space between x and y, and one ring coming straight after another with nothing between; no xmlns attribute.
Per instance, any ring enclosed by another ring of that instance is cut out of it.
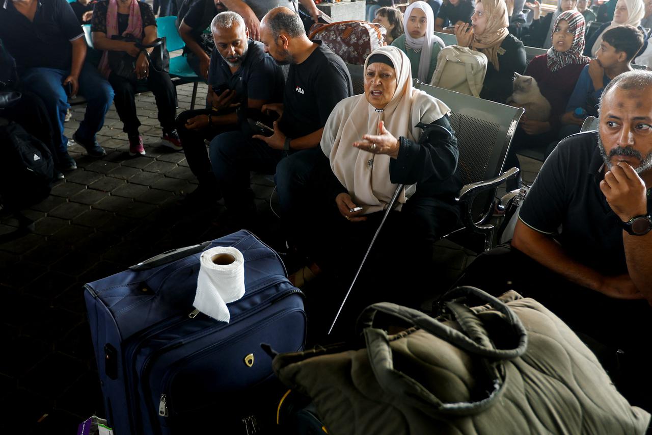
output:
<svg viewBox="0 0 652 435"><path fill-rule="evenodd" d="M462 282L539 300L605 345L604 355L593 349L608 368L622 349L614 380L648 411L651 188L652 72L625 72L602 93L599 131L565 138L546 159L520 209L511 255L482 255ZM496 274L502 285L493 287Z"/></svg>

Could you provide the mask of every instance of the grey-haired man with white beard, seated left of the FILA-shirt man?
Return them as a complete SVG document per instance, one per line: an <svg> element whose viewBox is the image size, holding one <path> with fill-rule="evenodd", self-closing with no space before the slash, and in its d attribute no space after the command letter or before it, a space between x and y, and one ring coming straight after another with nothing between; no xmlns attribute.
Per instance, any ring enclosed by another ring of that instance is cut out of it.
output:
<svg viewBox="0 0 652 435"><path fill-rule="evenodd" d="M198 204L221 197L204 140L239 128L236 106L241 110L260 109L266 103L283 99L283 72L265 54L263 44L248 39L241 16L221 12L213 20L211 30L215 49L208 82L213 107L187 110L177 118L188 165L200 183L187 198Z"/></svg>

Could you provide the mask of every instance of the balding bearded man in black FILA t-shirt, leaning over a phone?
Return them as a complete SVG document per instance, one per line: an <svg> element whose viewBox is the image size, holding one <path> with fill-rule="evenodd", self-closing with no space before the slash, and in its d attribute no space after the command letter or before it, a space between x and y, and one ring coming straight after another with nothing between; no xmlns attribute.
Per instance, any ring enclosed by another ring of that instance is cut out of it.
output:
<svg viewBox="0 0 652 435"><path fill-rule="evenodd" d="M260 25L260 39L274 60L289 64L283 103L263 105L276 112L270 137L247 138L239 131L223 133L211 142L213 172L231 218L243 224L255 212L249 171L276 174L276 188L284 207L289 178L301 178L312 169L312 156L321 153L319 141L334 106L353 95L344 61L306 37L301 18L289 8L270 10ZM280 162L280 163L279 163Z"/></svg>

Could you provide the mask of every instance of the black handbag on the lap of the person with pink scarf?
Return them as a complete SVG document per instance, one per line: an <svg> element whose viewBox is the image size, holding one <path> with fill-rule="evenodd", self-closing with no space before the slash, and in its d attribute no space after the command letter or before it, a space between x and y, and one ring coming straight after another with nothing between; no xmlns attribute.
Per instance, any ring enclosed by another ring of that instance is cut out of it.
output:
<svg viewBox="0 0 652 435"><path fill-rule="evenodd" d="M142 41L132 35L121 36L113 35L113 40L124 40L126 42L135 42L136 47L145 53L149 66L156 72L170 72L170 53L168 52L166 37L155 39L151 44L143 44ZM152 53L147 52L147 48L154 48ZM108 54L109 68L114 74L130 80L137 80L136 77L136 57L126 52L111 51Z"/></svg>

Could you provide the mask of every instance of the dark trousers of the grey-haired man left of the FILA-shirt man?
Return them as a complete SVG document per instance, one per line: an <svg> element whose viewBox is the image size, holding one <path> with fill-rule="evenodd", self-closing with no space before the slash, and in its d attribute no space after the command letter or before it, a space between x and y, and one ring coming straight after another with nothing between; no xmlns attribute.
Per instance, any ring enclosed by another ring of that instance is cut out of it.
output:
<svg viewBox="0 0 652 435"><path fill-rule="evenodd" d="M207 116L215 113L211 109L186 110L177 117L177 133L183 144L183 152L186 154L188 167L197 177L200 184L215 184L215 176L211 167L211 160L208 157L205 140L212 140L220 133L236 130L237 125L213 125L203 129L187 129L186 122L195 116Z"/></svg>

